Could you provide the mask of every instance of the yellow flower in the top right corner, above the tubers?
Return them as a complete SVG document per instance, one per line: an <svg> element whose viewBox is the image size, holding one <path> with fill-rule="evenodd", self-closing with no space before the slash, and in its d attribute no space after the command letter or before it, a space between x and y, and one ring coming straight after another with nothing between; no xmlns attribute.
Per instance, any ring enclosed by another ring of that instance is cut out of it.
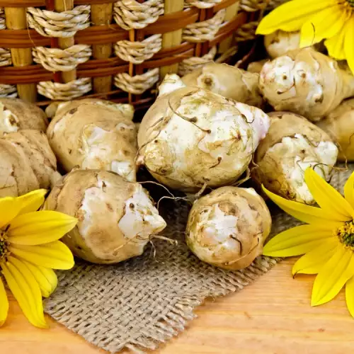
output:
<svg viewBox="0 0 354 354"><path fill-rule="evenodd" d="M275 8L256 33L301 30L300 47L326 39L329 55L348 61L354 73L354 0L292 0Z"/></svg>

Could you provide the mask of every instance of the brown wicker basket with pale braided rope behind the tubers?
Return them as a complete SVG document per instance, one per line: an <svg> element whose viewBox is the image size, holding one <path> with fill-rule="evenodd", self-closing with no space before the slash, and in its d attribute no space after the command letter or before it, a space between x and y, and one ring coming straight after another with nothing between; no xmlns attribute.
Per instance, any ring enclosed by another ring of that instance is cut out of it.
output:
<svg viewBox="0 0 354 354"><path fill-rule="evenodd" d="M0 97L149 105L161 76L227 61L284 0L0 0Z"/></svg>

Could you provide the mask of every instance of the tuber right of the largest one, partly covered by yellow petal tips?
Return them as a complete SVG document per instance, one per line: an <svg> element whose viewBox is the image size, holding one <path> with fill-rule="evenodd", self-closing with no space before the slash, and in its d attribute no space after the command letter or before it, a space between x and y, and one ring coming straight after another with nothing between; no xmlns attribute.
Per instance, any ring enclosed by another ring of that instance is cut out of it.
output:
<svg viewBox="0 0 354 354"><path fill-rule="evenodd" d="M271 124L254 156L251 178L283 198L314 204L304 181L312 167L329 180L338 148L331 137L306 118L290 112L268 113Z"/></svg>

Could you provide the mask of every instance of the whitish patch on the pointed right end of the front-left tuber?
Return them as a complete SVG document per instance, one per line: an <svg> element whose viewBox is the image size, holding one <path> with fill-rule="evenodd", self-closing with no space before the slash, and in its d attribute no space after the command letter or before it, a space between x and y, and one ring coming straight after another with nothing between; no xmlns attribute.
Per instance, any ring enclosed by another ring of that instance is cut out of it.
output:
<svg viewBox="0 0 354 354"><path fill-rule="evenodd" d="M125 215L118 222L122 233L128 239L149 239L152 234L161 232L166 227L166 222L159 215L142 186L125 202Z"/></svg>

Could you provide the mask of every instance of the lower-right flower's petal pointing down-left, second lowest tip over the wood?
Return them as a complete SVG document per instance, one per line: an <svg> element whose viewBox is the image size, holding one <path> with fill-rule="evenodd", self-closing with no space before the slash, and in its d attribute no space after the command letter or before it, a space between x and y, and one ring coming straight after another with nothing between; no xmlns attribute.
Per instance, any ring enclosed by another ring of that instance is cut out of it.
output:
<svg viewBox="0 0 354 354"><path fill-rule="evenodd" d="M337 247L336 252L316 276L311 305L318 306L331 301L353 275L353 251L343 246Z"/></svg>

